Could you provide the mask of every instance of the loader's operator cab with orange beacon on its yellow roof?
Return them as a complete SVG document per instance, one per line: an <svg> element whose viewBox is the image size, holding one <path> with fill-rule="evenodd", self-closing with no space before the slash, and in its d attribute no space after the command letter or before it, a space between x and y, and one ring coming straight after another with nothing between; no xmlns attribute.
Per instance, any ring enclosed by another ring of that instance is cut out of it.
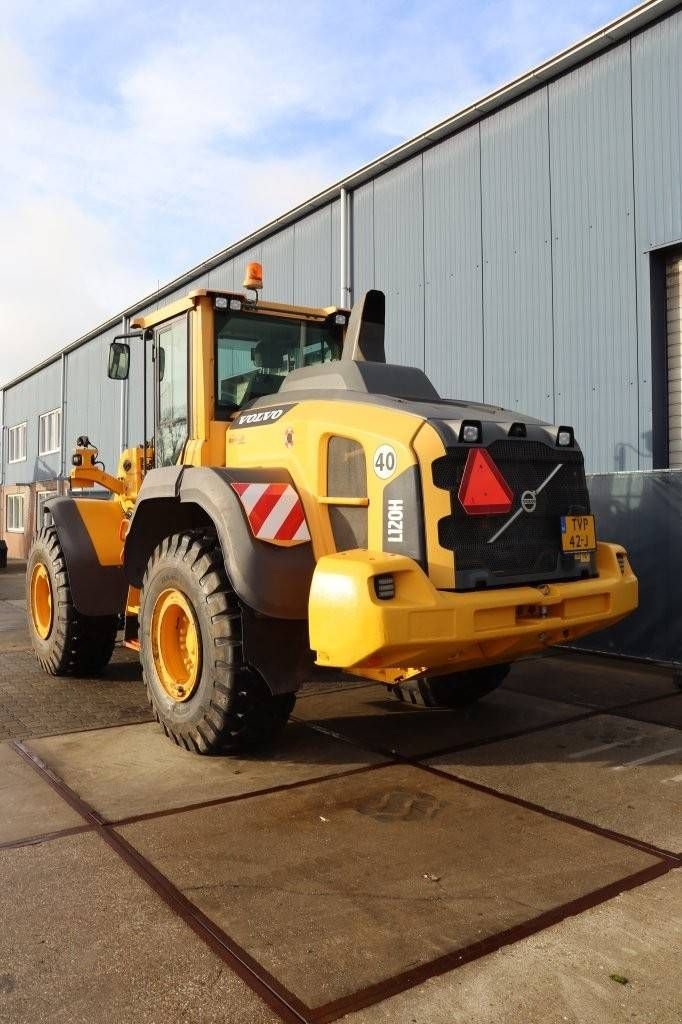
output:
<svg viewBox="0 0 682 1024"><path fill-rule="evenodd" d="M262 287L262 267L249 263L244 288L254 293L253 298L237 292L198 289L163 309L138 316L132 323L136 330L117 335L112 341L109 376L113 380L128 377L129 341L141 343L145 438L146 362L151 352L154 426L153 439L146 443L154 452L156 467L177 465L193 436L193 372L201 373L202 367L214 368L215 398L209 416L225 421L256 399L276 394L293 370L341 357L349 310L263 302L259 299ZM190 314L196 309L200 310L200 318L195 323ZM201 435L207 425L195 428Z"/></svg>

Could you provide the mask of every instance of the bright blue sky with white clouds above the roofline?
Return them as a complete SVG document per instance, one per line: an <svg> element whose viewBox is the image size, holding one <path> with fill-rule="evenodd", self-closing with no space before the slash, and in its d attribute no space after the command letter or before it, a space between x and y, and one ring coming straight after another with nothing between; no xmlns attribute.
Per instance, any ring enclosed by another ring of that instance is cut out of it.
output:
<svg viewBox="0 0 682 1024"><path fill-rule="evenodd" d="M625 9L0 0L0 382Z"/></svg>

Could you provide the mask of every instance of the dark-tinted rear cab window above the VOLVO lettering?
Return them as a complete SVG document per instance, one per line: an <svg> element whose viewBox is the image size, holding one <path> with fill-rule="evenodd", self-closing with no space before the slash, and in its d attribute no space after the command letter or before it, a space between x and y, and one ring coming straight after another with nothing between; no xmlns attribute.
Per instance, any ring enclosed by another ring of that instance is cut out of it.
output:
<svg viewBox="0 0 682 1024"><path fill-rule="evenodd" d="M341 356L338 328L216 311L216 404L224 413L275 394L292 370Z"/></svg>

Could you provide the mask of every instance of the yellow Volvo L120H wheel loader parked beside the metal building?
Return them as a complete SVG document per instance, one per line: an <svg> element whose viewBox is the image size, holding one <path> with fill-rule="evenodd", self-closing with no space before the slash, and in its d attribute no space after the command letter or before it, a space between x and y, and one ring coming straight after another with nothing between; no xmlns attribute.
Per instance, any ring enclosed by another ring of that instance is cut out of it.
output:
<svg viewBox="0 0 682 1024"><path fill-rule="evenodd" d="M112 343L114 380L142 349L144 437L116 475L80 437L78 494L46 505L27 573L46 673L98 673L123 630L166 734L237 752L313 671L456 708L636 607L570 426L387 364L379 291L348 311L261 288L250 264L243 292L195 290Z"/></svg>

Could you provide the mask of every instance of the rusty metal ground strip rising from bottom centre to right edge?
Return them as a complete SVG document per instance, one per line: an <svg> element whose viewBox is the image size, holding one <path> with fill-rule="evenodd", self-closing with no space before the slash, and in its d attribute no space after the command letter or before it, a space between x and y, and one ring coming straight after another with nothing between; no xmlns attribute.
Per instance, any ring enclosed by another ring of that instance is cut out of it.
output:
<svg viewBox="0 0 682 1024"><path fill-rule="evenodd" d="M464 946L452 953L445 953L442 956L436 957L436 959L430 961L428 964L422 964L409 971L403 971L401 974L387 978L385 981L368 985L367 988L353 992L351 995L346 995L340 999L335 999L333 1002L316 1007L312 1011L314 1024L331 1024L332 1021L339 1020L340 1017L344 1017L346 1014L366 1010L368 1007L382 1002L392 995L397 995L399 992L415 988L417 985L428 981L429 978L435 978L438 975L446 974L457 968L464 967L465 964L471 964L482 956L497 952L498 949L502 949L504 946L512 945L512 943L519 942L521 939L529 938L538 932L558 925L566 918L590 910L592 907L598 906L600 903L605 903L614 896L620 896L621 893L629 892L638 886L645 885L647 882L652 882L654 879L667 874L672 869L673 865L669 863L660 862L658 864L651 864L641 871L629 874L627 878L621 879L619 882L612 882L601 889L595 889L593 892L587 893L585 896L580 896L569 903L564 903L552 910L546 910L544 913L521 925L515 925L513 928L508 928L504 932L498 932L497 935L492 935L479 942L474 942L472 945Z"/></svg>

